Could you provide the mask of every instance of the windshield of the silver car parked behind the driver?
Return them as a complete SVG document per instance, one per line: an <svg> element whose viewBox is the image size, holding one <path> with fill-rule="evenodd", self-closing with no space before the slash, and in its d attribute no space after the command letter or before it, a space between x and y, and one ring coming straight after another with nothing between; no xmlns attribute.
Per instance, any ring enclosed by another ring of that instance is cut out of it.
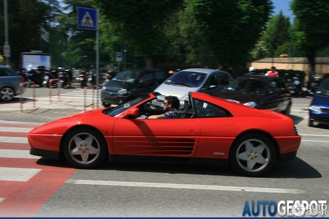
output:
<svg viewBox="0 0 329 219"><path fill-rule="evenodd" d="M178 85L186 87L198 87L205 80L207 74L194 71L181 71L170 77L166 85Z"/></svg>

